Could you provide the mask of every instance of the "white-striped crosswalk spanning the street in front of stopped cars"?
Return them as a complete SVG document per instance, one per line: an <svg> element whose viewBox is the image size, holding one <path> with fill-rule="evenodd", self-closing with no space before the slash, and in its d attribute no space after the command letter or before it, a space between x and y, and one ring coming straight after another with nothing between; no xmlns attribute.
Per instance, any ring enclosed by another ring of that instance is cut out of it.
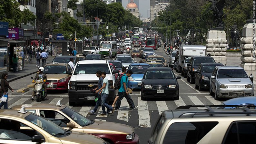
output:
<svg viewBox="0 0 256 144"><path fill-rule="evenodd" d="M129 104L126 101L126 99L123 99L121 102L121 107L119 110L121 111L115 111L113 114L109 115L101 115L102 109L101 107L98 108L97 114L91 114L89 113L89 110L94 109L94 104L90 106L86 105L77 105L77 106L69 106L68 104L68 98L67 97L48 97L49 100L47 101L41 101L39 103L49 103L49 104L56 104L57 101L61 101L63 105L66 105L67 107L78 111L80 114L86 116L89 119L96 119L96 120L121 120L124 123L131 123L137 121L138 127L143 128L151 128L154 126L154 123L152 124L152 120L156 121L158 116L161 115L161 113L164 110L170 110L175 109L179 106L183 105L219 105L221 104L221 101L216 101L212 96L203 96L203 95L194 95L194 96L187 96L187 95L180 95L180 99L176 101L142 101L141 97L134 96L133 101L135 105L138 105L138 109L131 110L129 109ZM8 101L8 108L11 108L18 104L34 104L38 103L36 101L29 101L30 97L27 98L19 98L19 97L10 97ZM158 115L158 116L157 116Z"/></svg>

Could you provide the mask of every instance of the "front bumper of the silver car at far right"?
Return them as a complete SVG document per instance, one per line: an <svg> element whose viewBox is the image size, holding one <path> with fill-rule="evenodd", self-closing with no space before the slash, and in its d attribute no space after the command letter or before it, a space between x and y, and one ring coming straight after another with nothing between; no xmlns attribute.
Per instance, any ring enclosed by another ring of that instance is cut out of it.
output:
<svg viewBox="0 0 256 144"><path fill-rule="evenodd" d="M217 89L218 97L222 98L236 98L236 97L245 97L253 96L254 88L251 89Z"/></svg>

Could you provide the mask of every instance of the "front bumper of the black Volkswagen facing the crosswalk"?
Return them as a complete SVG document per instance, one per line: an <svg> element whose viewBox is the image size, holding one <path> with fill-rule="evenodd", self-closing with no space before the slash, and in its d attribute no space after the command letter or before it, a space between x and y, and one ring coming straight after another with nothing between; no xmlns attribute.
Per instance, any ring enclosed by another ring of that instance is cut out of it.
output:
<svg viewBox="0 0 256 144"><path fill-rule="evenodd" d="M164 89L163 93L157 93L157 89L143 89L141 94L144 98L174 98L177 97L179 92L178 88L175 89Z"/></svg>

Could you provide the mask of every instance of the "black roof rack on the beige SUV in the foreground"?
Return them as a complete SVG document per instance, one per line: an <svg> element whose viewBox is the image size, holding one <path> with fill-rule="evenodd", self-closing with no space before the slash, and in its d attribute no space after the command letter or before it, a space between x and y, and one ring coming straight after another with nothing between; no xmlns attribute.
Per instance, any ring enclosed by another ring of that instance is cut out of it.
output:
<svg viewBox="0 0 256 144"><path fill-rule="evenodd" d="M180 106L176 108L176 110L188 110L190 108L205 108L206 112L187 112L183 113L179 116L179 118L192 118L194 115L216 115L216 114L246 114L250 116L251 114L256 114L256 112L252 112L247 106L243 105L187 105L187 106ZM225 108L225 107L236 107L242 108L243 112L216 112L211 107L215 107L216 109ZM256 106L249 106L249 107L256 107Z"/></svg>

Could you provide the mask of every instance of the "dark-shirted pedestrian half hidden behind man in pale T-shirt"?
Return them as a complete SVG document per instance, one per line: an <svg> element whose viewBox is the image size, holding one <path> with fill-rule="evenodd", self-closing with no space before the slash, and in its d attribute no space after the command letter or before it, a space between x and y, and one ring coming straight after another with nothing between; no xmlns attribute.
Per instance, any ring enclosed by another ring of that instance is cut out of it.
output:
<svg viewBox="0 0 256 144"><path fill-rule="evenodd" d="M97 90L99 90L100 88L102 88L102 84L103 84L103 78L102 78L102 76L101 76L101 71L97 71L97 72L96 72L96 76L99 78L99 81L98 81L98 86L97 86L95 89L93 89L93 91L97 91ZM100 92L98 92L98 101L96 101L96 104L95 104L94 109L93 109L93 110L90 110L89 112L90 112L90 113L93 113L93 114L96 114L97 109L98 109L98 107L99 107L100 105L101 105L101 94L100 94Z"/></svg>

